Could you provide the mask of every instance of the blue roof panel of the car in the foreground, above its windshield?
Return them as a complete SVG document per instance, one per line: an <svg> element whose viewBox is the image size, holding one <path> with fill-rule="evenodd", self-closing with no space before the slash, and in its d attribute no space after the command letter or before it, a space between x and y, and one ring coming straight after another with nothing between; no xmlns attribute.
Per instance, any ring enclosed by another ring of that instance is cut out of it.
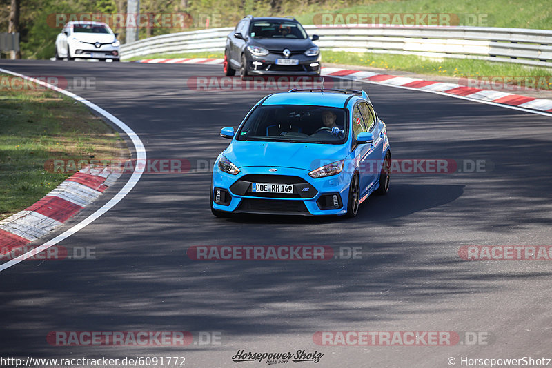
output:
<svg viewBox="0 0 552 368"><path fill-rule="evenodd" d="M350 97L351 94L333 92L284 92L268 96L262 105L315 105L344 108L345 102Z"/></svg>

